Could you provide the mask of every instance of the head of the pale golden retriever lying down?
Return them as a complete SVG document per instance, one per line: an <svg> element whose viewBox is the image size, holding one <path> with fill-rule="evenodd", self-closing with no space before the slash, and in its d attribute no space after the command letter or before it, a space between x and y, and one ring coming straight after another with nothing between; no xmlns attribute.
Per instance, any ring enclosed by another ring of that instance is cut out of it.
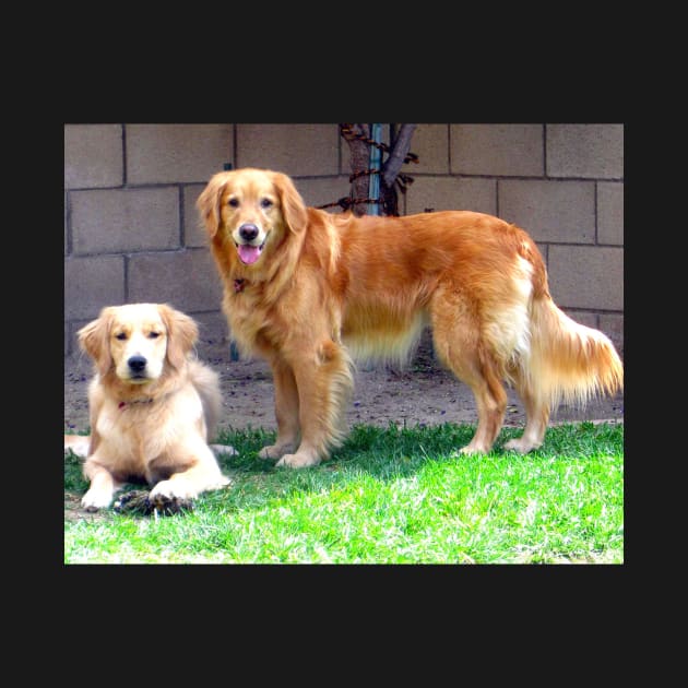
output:
<svg viewBox="0 0 688 688"><path fill-rule="evenodd" d="M145 384L159 379L166 364L185 364L198 325L166 304L127 304L104 308L78 337L100 376L112 370L123 382Z"/></svg>

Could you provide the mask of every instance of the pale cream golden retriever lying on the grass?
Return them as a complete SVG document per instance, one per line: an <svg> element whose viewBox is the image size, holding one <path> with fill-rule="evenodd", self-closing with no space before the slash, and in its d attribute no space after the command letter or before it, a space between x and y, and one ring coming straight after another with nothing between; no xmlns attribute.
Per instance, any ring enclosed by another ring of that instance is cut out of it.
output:
<svg viewBox="0 0 688 688"><path fill-rule="evenodd" d="M165 304L109 306L78 336L95 363L91 436L66 435L64 449L86 453L84 509L109 507L127 482L154 485L151 499L192 499L229 483L207 444L222 410L217 375L191 355L189 316Z"/></svg>

